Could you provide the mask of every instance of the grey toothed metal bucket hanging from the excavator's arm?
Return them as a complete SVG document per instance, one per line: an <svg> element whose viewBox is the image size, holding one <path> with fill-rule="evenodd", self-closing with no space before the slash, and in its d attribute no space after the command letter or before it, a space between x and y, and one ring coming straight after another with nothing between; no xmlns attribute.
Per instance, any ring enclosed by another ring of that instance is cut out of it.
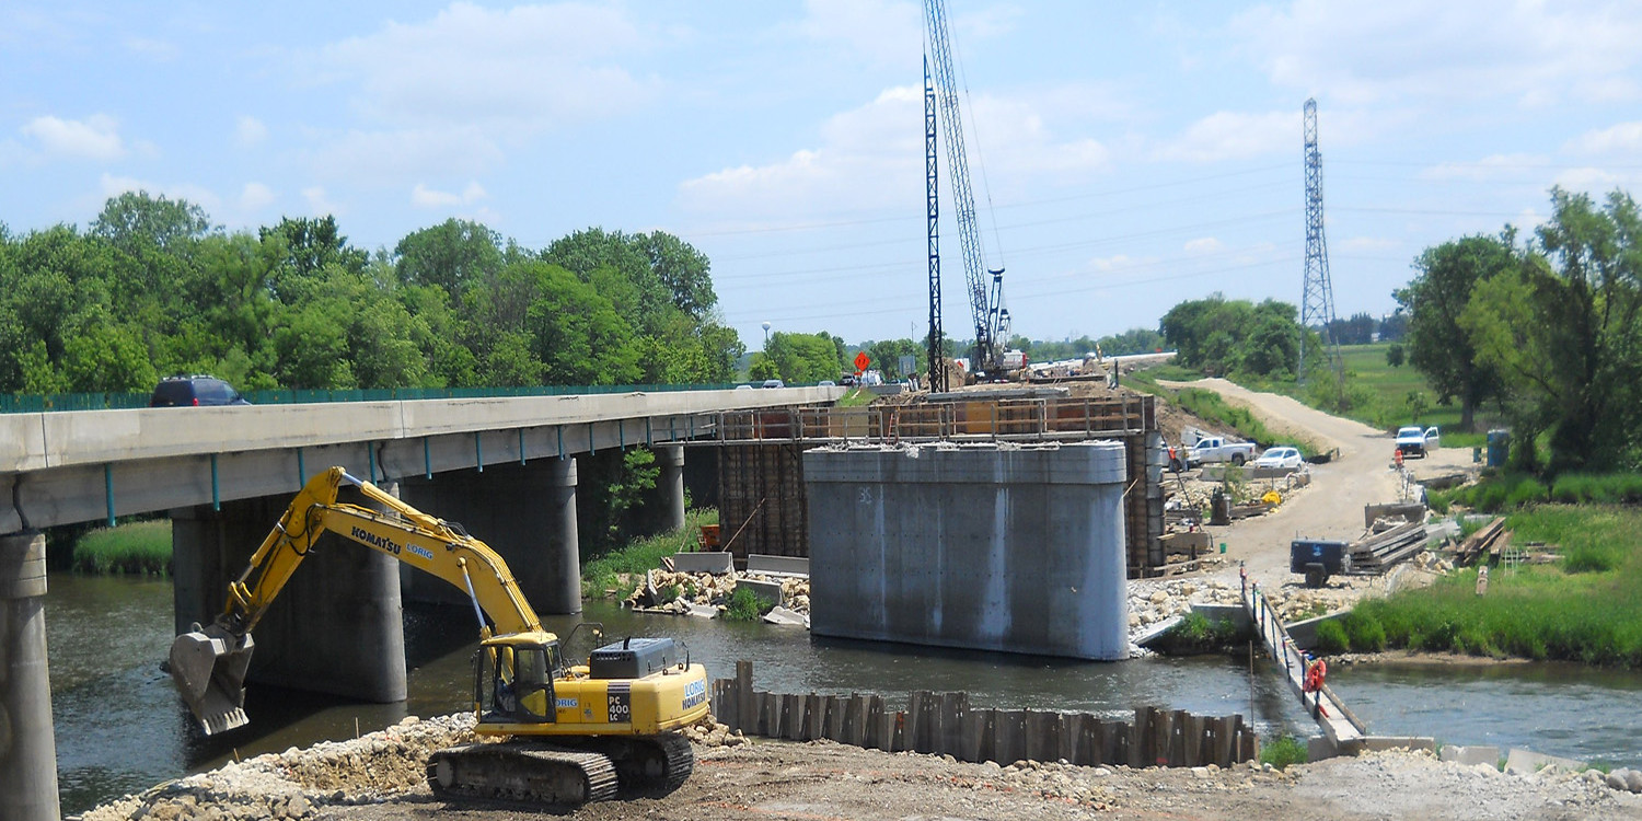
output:
<svg viewBox="0 0 1642 821"><path fill-rule="evenodd" d="M207 736L246 724L245 670L251 663L251 634L235 637L217 624L194 629L171 642L171 680Z"/></svg>

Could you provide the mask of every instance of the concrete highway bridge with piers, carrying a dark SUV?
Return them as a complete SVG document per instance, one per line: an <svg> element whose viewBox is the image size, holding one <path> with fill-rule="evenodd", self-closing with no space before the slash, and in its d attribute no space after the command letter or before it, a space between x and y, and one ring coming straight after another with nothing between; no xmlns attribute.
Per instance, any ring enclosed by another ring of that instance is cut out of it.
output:
<svg viewBox="0 0 1642 821"><path fill-rule="evenodd" d="M711 437L722 412L801 407L842 392L782 388L0 415L0 819L59 816L39 529L167 511L176 624L184 631L222 611L228 580L309 475L342 465L479 534L540 612L580 612L576 456L655 448L658 525L678 527L685 442ZM350 545L317 552L307 563L314 566L292 578L258 626L253 677L369 701L404 699L397 562Z"/></svg>

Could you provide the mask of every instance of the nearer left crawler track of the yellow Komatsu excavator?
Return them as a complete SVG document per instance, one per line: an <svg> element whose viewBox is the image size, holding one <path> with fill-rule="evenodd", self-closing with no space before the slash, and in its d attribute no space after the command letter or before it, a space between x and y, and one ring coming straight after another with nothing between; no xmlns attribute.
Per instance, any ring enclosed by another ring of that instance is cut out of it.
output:
<svg viewBox="0 0 1642 821"><path fill-rule="evenodd" d="M529 742L465 744L427 760L427 783L443 801L486 801L532 810L575 810L616 796L619 780L599 752Z"/></svg>

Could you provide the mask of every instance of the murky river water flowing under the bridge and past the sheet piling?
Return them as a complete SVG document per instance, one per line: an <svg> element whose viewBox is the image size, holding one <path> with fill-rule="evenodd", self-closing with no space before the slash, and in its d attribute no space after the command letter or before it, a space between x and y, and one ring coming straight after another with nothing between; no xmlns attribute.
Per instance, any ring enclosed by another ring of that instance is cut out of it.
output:
<svg viewBox="0 0 1642 821"><path fill-rule="evenodd" d="M1199 714L1253 714L1261 734L1310 734L1279 675L1264 662L1205 655L1117 663L1071 662L970 650L813 639L803 629L644 616L588 603L581 617L547 617L568 635L581 619L604 624L606 640L673 635L714 678L754 662L760 690L967 691L970 704L1131 714L1136 706ZM251 686L251 724L204 739L171 690L159 662L171 645L171 583L53 575L46 596L51 706L62 811L167 778L323 739L371 732L406 716L452 713L471 698L473 611L406 611L410 698L360 704L333 696ZM325 629L325 626L315 626ZM586 631L583 631L583 635ZM589 645L576 639L585 654ZM1642 675L1573 665L1356 665L1328 677L1376 734L1435 736L1447 744L1527 747L1552 755L1642 767ZM905 703L905 701L903 701Z"/></svg>

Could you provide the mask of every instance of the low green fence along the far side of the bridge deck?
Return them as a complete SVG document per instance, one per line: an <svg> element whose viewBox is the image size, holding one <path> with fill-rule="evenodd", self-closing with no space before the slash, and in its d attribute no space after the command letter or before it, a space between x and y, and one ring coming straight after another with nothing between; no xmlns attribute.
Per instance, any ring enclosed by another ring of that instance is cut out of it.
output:
<svg viewBox="0 0 1642 821"><path fill-rule="evenodd" d="M529 388L381 388L361 391L250 391L245 399L255 406L289 406L312 402L396 402L412 399L489 399L516 396L585 396L665 391L724 391L726 384L542 384ZM122 410L148 407L149 394L0 394L0 414L39 414L48 410Z"/></svg>

